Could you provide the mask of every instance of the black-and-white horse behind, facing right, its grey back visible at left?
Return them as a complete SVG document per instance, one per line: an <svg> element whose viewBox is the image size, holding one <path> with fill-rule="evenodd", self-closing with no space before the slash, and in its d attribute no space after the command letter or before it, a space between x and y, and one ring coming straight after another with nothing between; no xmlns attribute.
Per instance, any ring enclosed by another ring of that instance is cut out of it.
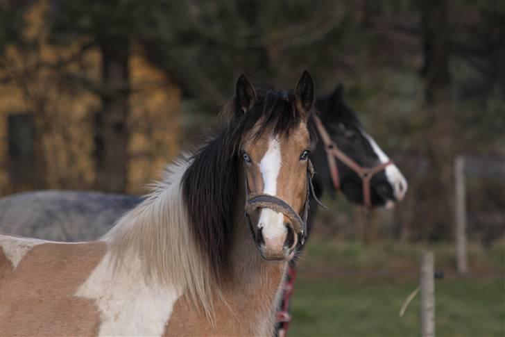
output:
<svg viewBox="0 0 505 337"><path fill-rule="evenodd" d="M339 84L327 96L319 97L316 109L319 119L323 124L325 133L351 161L361 167L379 167L390 160L373 138L365 131L357 114L346 104L343 98L344 88ZM309 126L320 133L316 126L314 115L309 117ZM319 138L321 135L319 135ZM336 158L338 181L329 164L325 143L319 139L314 144L311 160L318 174L314 176L314 186L317 197L323 190L329 190L334 195L336 190L341 190L343 195L356 204L366 204L363 193L363 179L354 170L348 167L349 161ZM369 181L370 204L368 207L392 206L401 200L407 190L406 179L394 165L387 165ZM0 199L0 208L3 211L3 230L18 235L37 235L37 237L52 240L92 240L97 238L110 227L125 212L130 211L142 202L142 197L131 195L111 195L101 192L85 191L36 191L25 192ZM30 204L30 209L26 205ZM311 203L308 233L318 210L317 204ZM291 272L286 276L292 279L294 264ZM280 324L278 329L286 329L289 314L287 295L286 302L282 304ZM286 321L286 322L284 322Z"/></svg>

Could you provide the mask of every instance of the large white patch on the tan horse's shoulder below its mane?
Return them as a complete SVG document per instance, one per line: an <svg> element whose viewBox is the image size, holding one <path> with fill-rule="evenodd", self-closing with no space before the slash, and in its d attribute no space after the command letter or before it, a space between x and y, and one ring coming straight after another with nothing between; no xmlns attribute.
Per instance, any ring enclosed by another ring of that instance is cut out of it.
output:
<svg viewBox="0 0 505 337"><path fill-rule="evenodd" d="M139 258L114 270L110 253L77 290L94 299L101 313L99 336L162 336L179 298L175 288L146 283Z"/></svg>

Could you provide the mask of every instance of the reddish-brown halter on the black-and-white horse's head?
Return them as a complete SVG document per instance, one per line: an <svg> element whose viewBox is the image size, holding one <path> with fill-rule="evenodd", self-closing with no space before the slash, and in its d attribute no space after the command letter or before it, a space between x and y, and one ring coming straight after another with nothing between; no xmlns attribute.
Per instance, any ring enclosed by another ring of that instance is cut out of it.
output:
<svg viewBox="0 0 505 337"><path fill-rule="evenodd" d="M336 190L340 190L339 167L336 165L336 159L339 159L345 166L354 171L363 182L363 204L366 208L372 208L370 180L375 174L385 170L386 167L393 164L393 161L388 160L386 163L381 163L375 167L363 167L356 163L350 156L344 154L343 151L336 146L332 138L329 137L323 122L316 115L313 116L316 122L318 133L325 145L326 156L328 159L329 172L332 175L333 186Z"/></svg>

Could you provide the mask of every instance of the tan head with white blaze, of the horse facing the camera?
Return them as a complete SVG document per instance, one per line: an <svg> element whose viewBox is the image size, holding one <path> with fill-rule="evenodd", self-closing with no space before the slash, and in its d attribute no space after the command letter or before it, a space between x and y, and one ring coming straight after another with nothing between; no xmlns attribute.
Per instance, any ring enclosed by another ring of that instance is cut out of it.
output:
<svg viewBox="0 0 505 337"><path fill-rule="evenodd" d="M308 72L294 92L257 92L245 76L237 81L246 214L267 260L289 260L305 240L311 179L307 119L313 98Z"/></svg>

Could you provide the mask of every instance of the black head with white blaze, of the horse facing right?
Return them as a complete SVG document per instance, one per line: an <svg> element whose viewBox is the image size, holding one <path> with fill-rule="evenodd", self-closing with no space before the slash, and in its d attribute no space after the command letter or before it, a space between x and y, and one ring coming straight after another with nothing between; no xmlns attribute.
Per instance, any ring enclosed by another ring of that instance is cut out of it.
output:
<svg viewBox="0 0 505 337"><path fill-rule="evenodd" d="M343 100L343 85L327 97L316 101L320 118L336 147L362 168L377 168L370 179L369 198L367 206L393 206L394 202L403 199L407 190L406 179L396 165L390 162L388 156L379 145L363 129L354 111ZM332 172L328 165L327 153L323 142L318 142L314 150L314 161L318 173L323 180L323 186L334 186ZM352 164L336 160L339 188L352 202L367 203L363 189L363 179Z"/></svg>

